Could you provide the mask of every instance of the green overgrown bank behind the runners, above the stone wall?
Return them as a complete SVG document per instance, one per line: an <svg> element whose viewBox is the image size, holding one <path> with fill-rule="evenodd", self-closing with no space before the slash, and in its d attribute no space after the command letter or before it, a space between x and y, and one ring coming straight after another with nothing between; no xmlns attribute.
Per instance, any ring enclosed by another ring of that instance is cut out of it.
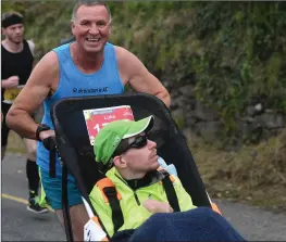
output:
<svg viewBox="0 0 286 242"><path fill-rule="evenodd" d="M76 1L10 1L26 17L38 58L71 37ZM111 41L136 53L170 88L194 84L197 98L217 110L226 132L248 104L286 113L286 3L110 2ZM41 13L41 14L39 14Z"/></svg>

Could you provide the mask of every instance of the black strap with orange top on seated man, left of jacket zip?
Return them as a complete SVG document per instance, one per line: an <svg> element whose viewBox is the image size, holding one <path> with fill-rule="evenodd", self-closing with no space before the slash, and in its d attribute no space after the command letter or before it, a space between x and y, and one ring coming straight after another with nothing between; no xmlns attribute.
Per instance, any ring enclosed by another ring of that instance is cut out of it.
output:
<svg viewBox="0 0 286 242"><path fill-rule="evenodd" d="M122 199L116 191L115 186L109 178L103 178L97 182L97 186L101 190L104 202L110 204L112 212L112 221L114 233L123 226L123 213L120 206L120 200Z"/></svg>

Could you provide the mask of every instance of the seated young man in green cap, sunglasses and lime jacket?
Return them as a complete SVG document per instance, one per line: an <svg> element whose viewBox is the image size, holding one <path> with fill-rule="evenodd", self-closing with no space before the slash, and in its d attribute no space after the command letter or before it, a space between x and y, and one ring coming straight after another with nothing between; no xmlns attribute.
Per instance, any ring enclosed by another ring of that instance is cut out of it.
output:
<svg viewBox="0 0 286 242"><path fill-rule="evenodd" d="M152 214L176 211L169 204L164 179L172 180L179 211L196 207L179 179L159 170L157 143L147 137L152 126L152 116L138 122L116 120L104 126L95 139L96 161L108 169L105 176L116 188L124 220L114 231L110 203L101 181L97 182L89 198L110 237L138 228Z"/></svg>

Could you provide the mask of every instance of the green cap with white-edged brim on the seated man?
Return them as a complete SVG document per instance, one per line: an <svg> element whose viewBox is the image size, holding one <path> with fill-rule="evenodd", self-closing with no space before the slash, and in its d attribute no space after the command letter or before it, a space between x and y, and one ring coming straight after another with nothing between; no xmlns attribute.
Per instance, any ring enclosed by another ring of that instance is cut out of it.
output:
<svg viewBox="0 0 286 242"><path fill-rule="evenodd" d="M96 161L108 164L121 140L149 131L152 127L153 116L137 122L123 119L109 123L96 136L94 143Z"/></svg>

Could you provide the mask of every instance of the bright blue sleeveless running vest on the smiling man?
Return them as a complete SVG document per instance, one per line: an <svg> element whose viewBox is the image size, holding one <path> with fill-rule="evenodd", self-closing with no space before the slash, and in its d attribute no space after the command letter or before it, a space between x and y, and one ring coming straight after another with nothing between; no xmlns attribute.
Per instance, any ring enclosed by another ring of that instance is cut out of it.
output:
<svg viewBox="0 0 286 242"><path fill-rule="evenodd" d="M45 114L41 122L50 126L51 129L54 127L50 109L59 100L71 97L120 94L124 91L113 44L107 43L104 46L103 64L94 74L84 74L77 69L71 56L70 46L71 43L66 43L53 49L59 59L60 80L57 91L43 102ZM41 169L49 171L49 151L45 149L42 142L38 142L37 164ZM61 176L62 169L58 156L55 169L57 175Z"/></svg>

